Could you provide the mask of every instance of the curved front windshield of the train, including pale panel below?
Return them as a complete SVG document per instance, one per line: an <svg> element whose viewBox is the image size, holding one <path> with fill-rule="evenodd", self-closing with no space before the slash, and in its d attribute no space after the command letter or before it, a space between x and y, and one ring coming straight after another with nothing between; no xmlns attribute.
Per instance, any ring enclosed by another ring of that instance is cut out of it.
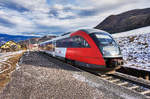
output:
<svg viewBox="0 0 150 99"><path fill-rule="evenodd" d="M91 37L94 39L104 57L118 57L121 55L117 43L110 35L105 33L93 33Z"/></svg>

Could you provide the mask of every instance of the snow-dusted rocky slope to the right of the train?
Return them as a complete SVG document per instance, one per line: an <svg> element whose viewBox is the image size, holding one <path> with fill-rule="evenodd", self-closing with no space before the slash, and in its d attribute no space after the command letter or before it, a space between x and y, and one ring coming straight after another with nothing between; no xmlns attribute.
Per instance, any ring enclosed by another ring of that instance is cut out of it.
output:
<svg viewBox="0 0 150 99"><path fill-rule="evenodd" d="M124 66L150 71L150 27L132 31L133 35L130 31L113 35L120 45Z"/></svg>

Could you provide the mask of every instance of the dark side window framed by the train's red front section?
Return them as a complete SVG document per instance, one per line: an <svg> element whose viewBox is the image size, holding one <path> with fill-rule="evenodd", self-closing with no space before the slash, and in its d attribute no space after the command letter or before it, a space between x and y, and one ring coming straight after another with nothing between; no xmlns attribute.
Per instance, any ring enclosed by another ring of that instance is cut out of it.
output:
<svg viewBox="0 0 150 99"><path fill-rule="evenodd" d="M80 36L74 36L72 37L73 40L73 47L79 47L79 48L89 48L88 42Z"/></svg>

